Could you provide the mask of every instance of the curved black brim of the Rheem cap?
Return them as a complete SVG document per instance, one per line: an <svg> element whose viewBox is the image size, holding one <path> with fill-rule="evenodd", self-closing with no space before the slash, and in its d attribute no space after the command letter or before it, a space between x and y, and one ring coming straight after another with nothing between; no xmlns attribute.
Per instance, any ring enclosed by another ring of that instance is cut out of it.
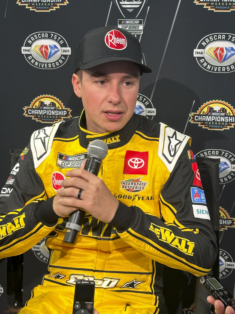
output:
<svg viewBox="0 0 235 314"><path fill-rule="evenodd" d="M135 64L137 64L139 66L141 73L151 73L152 72L152 70L149 67L147 67L145 64L137 62L137 61L135 61L133 59L124 58L124 57L107 57L107 58L100 58L100 59L92 60L90 62L87 62L87 63L81 65L81 67L79 67L78 69L86 70L86 69L90 69L90 68L96 67L97 65L101 65L101 64L108 63L108 62L113 62L113 61L129 61L129 62L133 62L133 63L135 63Z"/></svg>

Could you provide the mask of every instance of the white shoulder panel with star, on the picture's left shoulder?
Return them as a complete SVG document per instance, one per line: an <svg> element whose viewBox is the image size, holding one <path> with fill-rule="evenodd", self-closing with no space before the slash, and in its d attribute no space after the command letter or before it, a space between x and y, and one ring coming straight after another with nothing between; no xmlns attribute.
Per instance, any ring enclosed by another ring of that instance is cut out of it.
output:
<svg viewBox="0 0 235 314"><path fill-rule="evenodd" d="M63 121L55 123L51 127L44 127L32 134L30 146L35 168L37 168L50 155L55 133L62 122Z"/></svg>

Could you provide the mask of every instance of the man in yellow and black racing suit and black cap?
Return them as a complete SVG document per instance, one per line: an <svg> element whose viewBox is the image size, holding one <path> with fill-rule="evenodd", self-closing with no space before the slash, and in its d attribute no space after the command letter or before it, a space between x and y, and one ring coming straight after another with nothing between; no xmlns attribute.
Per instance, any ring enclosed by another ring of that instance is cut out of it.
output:
<svg viewBox="0 0 235 314"><path fill-rule="evenodd" d="M163 264L197 276L212 267L217 245L190 138L134 114L145 72L133 35L88 32L72 78L84 111L35 131L18 160L13 191L1 197L2 224L12 229L0 258L47 235L50 250L49 272L20 314L71 313L77 279L95 280L101 314L165 314ZM81 166L94 139L109 148L98 176ZM65 224L78 208L86 216L72 245Z"/></svg>

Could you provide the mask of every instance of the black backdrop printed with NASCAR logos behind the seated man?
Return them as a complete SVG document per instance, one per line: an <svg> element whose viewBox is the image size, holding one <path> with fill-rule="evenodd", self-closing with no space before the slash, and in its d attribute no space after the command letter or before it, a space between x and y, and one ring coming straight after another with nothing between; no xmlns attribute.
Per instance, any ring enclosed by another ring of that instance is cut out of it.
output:
<svg viewBox="0 0 235 314"><path fill-rule="evenodd" d="M190 135L196 156L220 158L220 280L233 294L235 0L2 0L0 13L0 185L13 183L10 149L23 150L34 130L80 114L71 77L82 36L105 25L128 30L153 69L141 77L136 113ZM24 253L24 302L41 282L48 257L45 239ZM176 280L180 294L170 294L171 313L191 314L194 280L188 273ZM5 259L0 308L9 302Z"/></svg>

